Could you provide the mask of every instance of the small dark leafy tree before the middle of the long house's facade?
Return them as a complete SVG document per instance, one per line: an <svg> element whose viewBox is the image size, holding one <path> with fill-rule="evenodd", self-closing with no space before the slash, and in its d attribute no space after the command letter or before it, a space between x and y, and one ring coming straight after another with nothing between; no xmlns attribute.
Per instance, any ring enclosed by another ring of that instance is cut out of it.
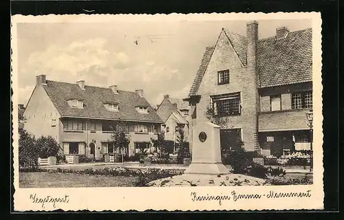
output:
<svg viewBox="0 0 344 220"><path fill-rule="evenodd" d="M127 124L122 121L118 121L115 126L111 126L111 143L114 150L114 161L116 160L117 150L120 151L122 155L122 163L124 162L123 149L129 146L130 137L125 133L125 128Z"/></svg>

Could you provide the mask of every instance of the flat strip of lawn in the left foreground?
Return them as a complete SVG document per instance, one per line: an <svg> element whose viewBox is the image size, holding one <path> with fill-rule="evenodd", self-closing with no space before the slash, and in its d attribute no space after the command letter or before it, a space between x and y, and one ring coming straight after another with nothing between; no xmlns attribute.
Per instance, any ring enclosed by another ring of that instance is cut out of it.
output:
<svg viewBox="0 0 344 220"><path fill-rule="evenodd" d="M81 175L76 173L19 173L20 188L134 186L137 177Z"/></svg>

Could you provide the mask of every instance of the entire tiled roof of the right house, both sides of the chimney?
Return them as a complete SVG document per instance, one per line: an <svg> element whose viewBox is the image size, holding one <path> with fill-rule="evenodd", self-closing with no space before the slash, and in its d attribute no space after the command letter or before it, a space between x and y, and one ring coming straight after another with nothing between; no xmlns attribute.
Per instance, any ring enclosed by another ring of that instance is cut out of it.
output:
<svg viewBox="0 0 344 220"><path fill-rule="evenodd" d="M246 65L247 38L223 29L228 40ZM206 47L189 96L194 96L202 82L215 46ZM290 32L286 39L275 36L258 41L259 87L275 87L312 81L312 28Z"/></svg>

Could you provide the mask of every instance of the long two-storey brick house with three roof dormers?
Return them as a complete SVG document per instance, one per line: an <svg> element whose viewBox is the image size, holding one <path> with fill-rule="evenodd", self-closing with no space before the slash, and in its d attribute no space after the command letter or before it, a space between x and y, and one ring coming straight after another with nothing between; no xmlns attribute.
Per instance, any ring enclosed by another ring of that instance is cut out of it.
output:
<svg viewBox="0 0 344 220"><path fill-rule="evenodd" d="M124 124L130 137L127 155L151 149L162 120L144 98L142 89L122 91L77 83L61 83L36 76L36 87L25 108L25 129L36 136L51 135L63 155L102 158L113 153L111 127Z"/></svg>

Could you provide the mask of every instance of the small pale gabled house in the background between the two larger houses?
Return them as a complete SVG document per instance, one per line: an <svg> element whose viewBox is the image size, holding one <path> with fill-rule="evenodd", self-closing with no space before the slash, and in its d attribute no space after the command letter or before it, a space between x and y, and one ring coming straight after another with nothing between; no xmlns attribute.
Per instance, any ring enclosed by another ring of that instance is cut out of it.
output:
<svg viewBox="0 0 344 220"><path fill-rule="evenodd" d="M158 104L156 112L162 119L162 131L164 131L165 140L176 142L179 132L184 133L184 142L189 142L189 103L179 98L170 98L164 95L164 99Z"/></svg>

